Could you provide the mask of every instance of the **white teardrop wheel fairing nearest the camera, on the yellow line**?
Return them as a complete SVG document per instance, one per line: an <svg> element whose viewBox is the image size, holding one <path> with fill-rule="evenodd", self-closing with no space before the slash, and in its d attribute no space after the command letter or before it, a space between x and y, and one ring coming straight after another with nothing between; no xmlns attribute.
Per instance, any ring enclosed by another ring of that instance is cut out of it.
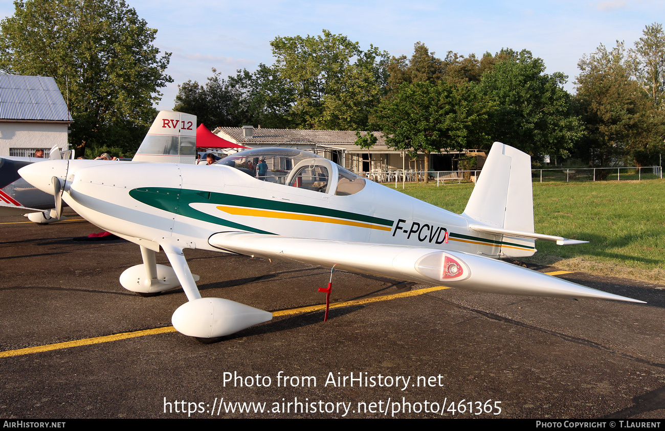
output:
<svg viewBox="0 0 665 431"><path fill-rule="evenodd" d="M184 303L171 322L190 337L223 337L273 319L273 313L221 298L200 298Z"/></svg>

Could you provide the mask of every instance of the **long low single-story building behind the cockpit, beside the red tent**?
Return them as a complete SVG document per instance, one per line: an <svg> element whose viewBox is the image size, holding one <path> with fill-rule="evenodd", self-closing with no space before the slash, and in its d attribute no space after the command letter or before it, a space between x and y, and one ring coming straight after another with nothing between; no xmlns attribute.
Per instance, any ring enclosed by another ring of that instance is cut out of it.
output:
<svg viewBox="0 0 665 431"><path fill-rule="evenodd" d="M356 173L388 172L390 170L424 171L425 155L412 160L408 154L393 150L386 145L383 134L374 132L378 138L369 150L355 144L356 132L350 130L298 130L242 127L218 127L213 133L234 144L251 148L286 147L298 148L324 156L342 167ZM364 134L365 132L362 132ZM464 151L430 154L430 170L456 171L458 160Z"/></svg>

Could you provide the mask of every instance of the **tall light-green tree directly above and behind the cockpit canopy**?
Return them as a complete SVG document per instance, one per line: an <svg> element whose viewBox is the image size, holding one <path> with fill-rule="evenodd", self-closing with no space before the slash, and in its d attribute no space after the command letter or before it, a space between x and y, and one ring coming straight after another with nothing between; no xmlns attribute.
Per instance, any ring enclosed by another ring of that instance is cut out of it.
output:
<svg viewBox="0 0 665 431"><path fill-rule="evenodd" d="M388 53L362 51L344 35L277 37L271 42L279 77L293 90L289 116L297 128L358 130L384 96Z"/></svg>

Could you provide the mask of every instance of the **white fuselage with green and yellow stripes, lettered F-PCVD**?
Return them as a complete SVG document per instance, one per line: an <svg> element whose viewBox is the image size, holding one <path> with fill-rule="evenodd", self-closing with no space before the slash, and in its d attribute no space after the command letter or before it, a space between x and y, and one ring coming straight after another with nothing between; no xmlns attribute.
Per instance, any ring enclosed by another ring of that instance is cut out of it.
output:
<svg viewBox="0 0 665 431"><path fill-rule="evenodd" d="M374 182L337 196L334 185L322 193L223 165L69 163L65 202L96 225L155 250L165 241L214 249L207 241L211 234L248 231L489 256L502 248L533 253L528 241L496 241L469 229L467 217Z"/></svg>

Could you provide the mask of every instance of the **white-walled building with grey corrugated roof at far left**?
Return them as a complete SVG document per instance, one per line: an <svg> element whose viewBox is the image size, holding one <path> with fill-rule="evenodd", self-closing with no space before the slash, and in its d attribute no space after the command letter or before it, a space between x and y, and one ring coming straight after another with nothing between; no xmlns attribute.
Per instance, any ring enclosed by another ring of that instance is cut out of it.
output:
<svg viewBox="0 0 665 431"><path fill-rule="evenodd" d="M57 145L67 150L72 124L67 104L50 76L0 74L0 156L33 156Z"/></svg>

